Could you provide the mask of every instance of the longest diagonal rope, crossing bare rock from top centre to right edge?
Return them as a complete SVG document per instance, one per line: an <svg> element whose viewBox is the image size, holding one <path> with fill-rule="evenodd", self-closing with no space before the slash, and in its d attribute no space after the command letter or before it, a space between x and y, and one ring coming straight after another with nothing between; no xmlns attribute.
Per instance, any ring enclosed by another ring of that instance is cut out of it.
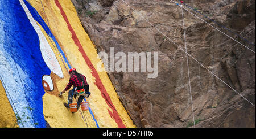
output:
<svg viewBox="0 0 256 139"><path fill-rule="evenodd" d="M123 1L123 0L122 0ZM172 1L173 2L173 1ZM130 5L128 5L125 1L123 1L123 3L125 3L128 7L130 7L132 10L134 10L133 7L131 7ZM176 3L175 3L176 4ZM134 10L135 11L135 10ZM180 47L179 45L177 45L174 41L171 40L171 38L169 38L168 36L166 36L166 34L164 34L162 31L160 31L158 28L156 28L152 23L150 23L150 21L148 21L146 18L144 18L144 16L142 16L141 14L139 14L137 11L135 11L139 16L141 16L141 18L143 18L144 20L147 21L148 24L152 25L152 27L154 27L158 32L160 32L164 37L166 37L168 40L170 40L172 43L174 43L177 47L179 47L180 50L184 51L184 53L186 53L189 57L191 57L193 60L195 60L197 63L200 64L201 67L207 69L208 72L210 72L213 76L215 76L218 80L220 80L221 82L223 82L226 86L228 86L230 89L232 89L234 92L236 92L238 95L240 95L243 99L245 99L247 102L249 102L251 105L253 105L255 107L255 105L253 103L251 103L248 99L246 99L245 97L243 97L240 93L238 93L235 89L233 89L231 86L229 86L225 81L221 80L220 77L218 77L217 75L215 75L212 71L210 71L207 67L205 67L203 64L201 64L198 60L196 60L194 57L192 57L192 55L188 54L182 47Z"/></svg>

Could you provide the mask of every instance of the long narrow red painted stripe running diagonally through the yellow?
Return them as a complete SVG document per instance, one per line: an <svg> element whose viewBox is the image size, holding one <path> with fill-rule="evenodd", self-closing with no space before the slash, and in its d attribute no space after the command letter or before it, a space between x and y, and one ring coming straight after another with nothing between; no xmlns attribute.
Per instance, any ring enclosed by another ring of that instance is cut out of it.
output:
<svg viewBox="0 0 256 139"><path fill-rule="evenodd" d="M98 87L98 89L100 89L102 97L105 99L106 103L108 104L108 106L113 111L113 112L111 112L111 111L108 110L109 115L115 120L118 127L122 127L122 128L125 127L125 125L123 124L123 121L120 118L117 110L115 110L115 107L114 107L114 105L113 105L113 103L112 103L112 101L109 97L109 94L106 92L106 89L105 89L104 85L101 82L101 79L100 79L100 76L98 75L98 72L94 68L92 62L90 62L90 59L88 58L84 49L82 48L82 45L81 45L79 39L77 38L75 31L71 27L71 24L69 23L67 15L63 11L63 8L61 7L60 2L58 0L55 0L55 3L56 3L56 6L59 7L61 15L63 16L64 20L66 21L66 23L68 25L68 29L72 34L72 39L74 40L75 44L79 47L79 51L82 54L82 57L84 57L84 60L85 60L86 64L89 66L89 68L92 69L92 75L95 77L94 84Z"/></svg>

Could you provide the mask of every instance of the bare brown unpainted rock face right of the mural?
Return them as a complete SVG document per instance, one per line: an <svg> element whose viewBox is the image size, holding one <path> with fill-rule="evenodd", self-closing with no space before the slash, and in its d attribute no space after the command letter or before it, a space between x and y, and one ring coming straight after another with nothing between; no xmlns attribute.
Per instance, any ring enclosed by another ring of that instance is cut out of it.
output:
<svg viewBox="0 0 256 139"><path fill-rule="evenodd" d="M185 49L179 6L166 0L126 0L133 9L122 0L72 2L98 52L158 52L156 78L108 72L137 127L189 127L193 113L196 127L255 127L255 1L185 1L230 31L185 7L189 11L253 50L183 10L188 54L237 91L188 57L193 113L186 54L168 39Z"/></svg>

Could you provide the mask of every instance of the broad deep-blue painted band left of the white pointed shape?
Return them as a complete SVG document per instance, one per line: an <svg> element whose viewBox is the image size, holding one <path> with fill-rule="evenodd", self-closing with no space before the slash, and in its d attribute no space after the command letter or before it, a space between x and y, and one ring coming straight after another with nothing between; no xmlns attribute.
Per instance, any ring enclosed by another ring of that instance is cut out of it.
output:
<svg viewBox="0 0 256 139"><path fill-rule="evenodd" d="M32 27L19 1L5 1L5 4L1 5L0 17L5 31L5 42L3 42L4 45L0 49L4 50L5 55L8 55L8 57L14 60L14 63L9 63L11 70L16 71L16 63L20 67L19 73L24 73L24 75L20 76L24 90L20 89L17 90L18 92L13 92L13 96L11 97L18 103L18 101L24 100L19 98L19 94L26 94L25 100L27 100L32 112L31 119L34 119L33 122L35 122L32 124L35 127L46 127L46 121L43 115L42 97L45 91L42 86L42 76L49 75L51 70L47 67L42 57L38 34ZM8 57L6 56L6 58ZM21 85L17 71L10 78L15 79ZM5 80L5 82L6 84L10 84L8 80ZM9 86L8 90L10 92L10 90L17 87ZM19 106L18 111L25 112L25 110L22 110L24 107Z"/></svg>

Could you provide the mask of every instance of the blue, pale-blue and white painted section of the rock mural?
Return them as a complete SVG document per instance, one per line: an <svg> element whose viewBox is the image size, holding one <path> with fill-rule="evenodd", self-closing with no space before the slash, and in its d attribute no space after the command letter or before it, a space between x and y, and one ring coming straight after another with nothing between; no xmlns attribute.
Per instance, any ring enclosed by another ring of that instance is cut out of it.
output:
<svg viewBox="0 0 256 139"><path fill-rule="evenodd" d="M0 71L2 82L6 83L5 91L9 94L7 97L12 101L19 127L45 127L42 97L44 89L53 90L51 77L45 75L52 71L63 78L63 72L46 36L30 13L32 7L27 8L29 3L0 2ZM43 24L40 16L38 20ZM46 24L44 27L47 29Z"/></svg>

